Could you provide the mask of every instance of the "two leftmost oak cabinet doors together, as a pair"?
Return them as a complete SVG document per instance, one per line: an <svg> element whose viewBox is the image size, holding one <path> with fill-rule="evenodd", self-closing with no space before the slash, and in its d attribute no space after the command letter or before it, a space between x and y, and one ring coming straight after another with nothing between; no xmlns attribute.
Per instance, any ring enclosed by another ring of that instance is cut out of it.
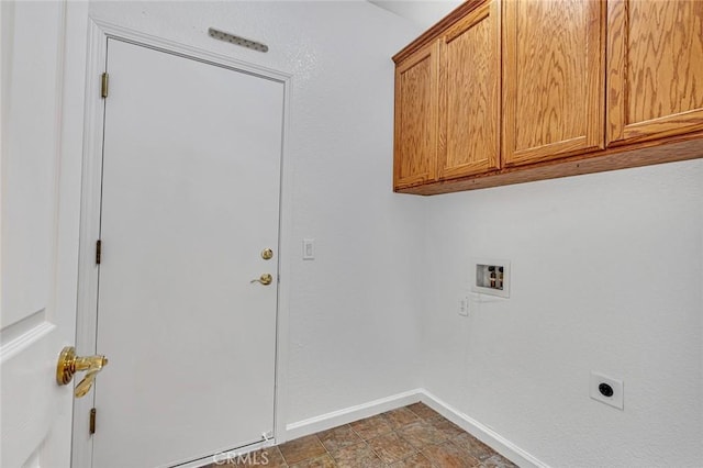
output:
<svg viewBox="0 0 703 468"><path fill-rule="evenodd" d="M473 9L438 38L398 60L397 190L499 168L498 4L489 1Z"/></svg>

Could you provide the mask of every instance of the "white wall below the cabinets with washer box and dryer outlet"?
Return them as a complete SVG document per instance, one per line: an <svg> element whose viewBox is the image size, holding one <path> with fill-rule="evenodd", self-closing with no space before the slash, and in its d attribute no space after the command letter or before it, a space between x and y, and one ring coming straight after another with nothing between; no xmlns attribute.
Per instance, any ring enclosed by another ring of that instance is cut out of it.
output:
<svg viewBox="0 0 703 468"><path fill-rule="evenodd" d="M549 466L700 467L702 181L693 160L426 199L426 389ZM512 260L511 298L462 317L472 257Z"/></svg>

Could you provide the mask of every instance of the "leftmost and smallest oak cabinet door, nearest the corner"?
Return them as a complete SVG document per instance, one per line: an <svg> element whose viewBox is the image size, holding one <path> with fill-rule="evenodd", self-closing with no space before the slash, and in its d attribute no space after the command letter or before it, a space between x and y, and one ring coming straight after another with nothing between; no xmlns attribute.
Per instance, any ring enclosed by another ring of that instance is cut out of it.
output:
<svg viewBox="0 0 703 468"><path fill-rule="evenodd" d="M438 43L395 67L395 189L437 178Z"/></svg>

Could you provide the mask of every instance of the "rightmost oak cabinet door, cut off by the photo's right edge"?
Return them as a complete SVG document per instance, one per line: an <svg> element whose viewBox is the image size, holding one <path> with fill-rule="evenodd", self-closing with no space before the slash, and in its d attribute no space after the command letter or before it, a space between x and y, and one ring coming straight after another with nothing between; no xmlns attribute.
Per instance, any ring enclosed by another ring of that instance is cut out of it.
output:
<svg viewBox="0 0 703 468"><path fill-rule="evenodd" d="M703 1L609 2L607 142L703 129Z"/></svg>

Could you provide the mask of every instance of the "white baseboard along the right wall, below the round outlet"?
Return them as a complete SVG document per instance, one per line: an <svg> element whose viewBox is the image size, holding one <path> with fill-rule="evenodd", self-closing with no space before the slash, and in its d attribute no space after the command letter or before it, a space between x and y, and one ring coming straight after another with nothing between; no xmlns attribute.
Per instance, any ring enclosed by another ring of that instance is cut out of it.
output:
<svg viewBox="0 0 703 468"><path fill-rule="evenodd" d="M523 468L549 468L548 465L542 463L539 459L535 458L512 442L507 441L495 431L479 423L475 419L469 417L467 414L462 413L450 404L445 403L434 394L429 393L427 390L420 389L419 393L422 395L421 401L427 406L432 408L437 413L442 414L447 420L451 421L464 431L468 432L473 437L490 446L495 452L510 459L517 466Z"/></svg>

